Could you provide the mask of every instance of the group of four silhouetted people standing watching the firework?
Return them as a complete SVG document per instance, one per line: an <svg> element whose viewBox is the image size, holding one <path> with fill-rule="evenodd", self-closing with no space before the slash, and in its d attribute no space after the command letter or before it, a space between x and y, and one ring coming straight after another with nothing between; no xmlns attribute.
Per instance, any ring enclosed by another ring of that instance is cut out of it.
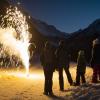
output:
<svg viewBox="0 0 100 100"><path fill-rule="evenodd" d="M53 95L52 91L52 77L55 70L59 73L59 87L60 91L64 91L64 79L63 70L66 73L68 82L70 85L80 85L80 78L82 83L86 83L86 58L84 50L79 50L77 57L77 71L76 81L73 82L71 73L69 72L70 63L70 49L65 47L66 43L60 41L59 47L55 50L50 42L46 42L43 50L41 51L40 60L44 70L45 82L44 82L44 95ZM93 41L93 49L91 55L91 67L93 68L92 82L98 82L98 76L100 79L100 38Z"/></svg>

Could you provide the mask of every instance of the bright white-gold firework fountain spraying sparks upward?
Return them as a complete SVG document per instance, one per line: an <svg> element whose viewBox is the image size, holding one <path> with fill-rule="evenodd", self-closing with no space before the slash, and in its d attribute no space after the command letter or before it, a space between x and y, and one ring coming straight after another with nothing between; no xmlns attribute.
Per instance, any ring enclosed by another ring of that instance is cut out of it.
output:
<svg viewBox="0 0 100 100"><path fill-rule="evenodd" d="M18 57L29 74L29 26L26 17L18 10L17 7L7 8L5 16L2 16L0 28L1 51L6 52L9 56ZM4 56L4 55L3 55ZM12 59L11 59L12 60Z"/></svg>

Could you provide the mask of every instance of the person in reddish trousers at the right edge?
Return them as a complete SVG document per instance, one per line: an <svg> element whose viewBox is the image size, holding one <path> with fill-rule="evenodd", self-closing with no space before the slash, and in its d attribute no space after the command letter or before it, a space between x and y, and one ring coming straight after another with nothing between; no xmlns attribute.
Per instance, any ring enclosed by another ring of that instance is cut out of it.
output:
<svg viewBox="0 0 100 100"><path fill-rule="evenodd" d="M91 66L93 67L92 82L98 82L100 79L100 38L93 41Z"/></svg>

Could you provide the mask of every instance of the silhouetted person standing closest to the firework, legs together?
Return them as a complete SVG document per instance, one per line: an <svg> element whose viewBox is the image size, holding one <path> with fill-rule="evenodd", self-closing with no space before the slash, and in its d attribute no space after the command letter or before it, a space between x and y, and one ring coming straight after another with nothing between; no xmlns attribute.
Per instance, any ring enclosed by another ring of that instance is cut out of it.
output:
<svg viewBox="0 0 100 100"><path fill-rule="evenodd" d="M44 94L53 95L52 92L52 77L55 70L53 65L53 55L51 44L49 42L45 43L45 47L41 53L41 64L44 70L45 83L44 83Z"/></svg>

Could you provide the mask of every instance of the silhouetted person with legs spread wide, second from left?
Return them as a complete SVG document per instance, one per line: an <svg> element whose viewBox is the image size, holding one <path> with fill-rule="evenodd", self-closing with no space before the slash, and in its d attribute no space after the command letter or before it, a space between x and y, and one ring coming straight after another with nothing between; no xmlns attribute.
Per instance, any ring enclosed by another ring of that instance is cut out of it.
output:
<svg viewBox="0 0 100 100"><path fill-rule="evenodd" d="M65 73L67 75L68 82L70 83L70 85L73 84L73 80L69 72L70 56L68 48L65 49L64 41L60 41L59 48L56 51L56 56L58 61L59 85L60 85L60 90L63 91L64 90L63 69L65 70Z"/></svg>

